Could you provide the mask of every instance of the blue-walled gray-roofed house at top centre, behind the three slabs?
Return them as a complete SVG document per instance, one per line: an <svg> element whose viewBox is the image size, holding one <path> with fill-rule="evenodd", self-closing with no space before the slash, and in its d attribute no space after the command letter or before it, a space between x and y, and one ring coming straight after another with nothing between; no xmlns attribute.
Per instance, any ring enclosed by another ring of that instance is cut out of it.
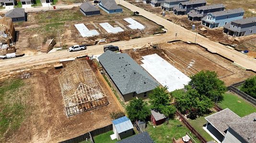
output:
<svg viewBox="0 0 256 143"><path fill-rule="evenodd" d="M100 0L99 7L107 13L123 12L122 7L118 6L115 0Z"/></svg>

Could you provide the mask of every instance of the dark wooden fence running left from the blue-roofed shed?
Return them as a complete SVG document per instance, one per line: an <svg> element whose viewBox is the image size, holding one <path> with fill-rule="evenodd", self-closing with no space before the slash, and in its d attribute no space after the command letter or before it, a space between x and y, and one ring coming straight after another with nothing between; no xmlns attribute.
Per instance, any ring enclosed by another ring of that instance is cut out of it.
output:
<svg viewBox="0 0 256 143"><path fill-rule="evenodd" d="M63 141L63 142L59 142L59 143L80 143L82 141L90 141L91 143L94 143L93 137L102 133L106 133L108 131L112 131L113 130L113 125L107 125L105 127L93 130L91 132L88 133L84 133L78 137Z"/></svg>

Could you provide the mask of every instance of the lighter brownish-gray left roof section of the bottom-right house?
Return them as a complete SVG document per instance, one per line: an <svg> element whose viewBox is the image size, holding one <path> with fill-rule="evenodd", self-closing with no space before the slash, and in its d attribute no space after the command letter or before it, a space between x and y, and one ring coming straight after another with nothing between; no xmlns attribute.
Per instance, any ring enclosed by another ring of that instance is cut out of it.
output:
<svg viewBox="0 0 256 143"><path fill-rule="evenodd" d="M205 119L219 132L225 135L226 133L224 133L224 131L228 129L227 124L239 120L240 117L230 109L226 108L220 112L205 117Z"/></svg>

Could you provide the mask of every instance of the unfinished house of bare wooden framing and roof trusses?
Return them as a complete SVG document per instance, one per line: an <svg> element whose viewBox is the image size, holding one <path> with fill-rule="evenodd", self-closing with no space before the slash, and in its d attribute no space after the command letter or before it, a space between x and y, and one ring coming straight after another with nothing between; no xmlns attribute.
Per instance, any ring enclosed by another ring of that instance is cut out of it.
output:
<svg viewBox="0 0 256 143"><path fill-rule="evenodd" d="M68 116L109 103L87 61L68 63L58 80Z"/></svg>

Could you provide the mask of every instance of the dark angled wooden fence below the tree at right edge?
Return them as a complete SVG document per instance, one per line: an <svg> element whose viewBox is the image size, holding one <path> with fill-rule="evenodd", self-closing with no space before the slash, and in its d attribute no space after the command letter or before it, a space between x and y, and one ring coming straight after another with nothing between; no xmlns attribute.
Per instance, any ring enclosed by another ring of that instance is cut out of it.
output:
<svg viewBox="0 0 256 143"><path fill-rule="evenodd" d="M250 95L240 91L238 88L236 88L237 86L240 86L242 84L244 84L245 81L243 82L238 82L238 83L235 83L231 86L228 87L229 91L236 94L236 95L239 95L240 97L242 97L245 101L249 102L250 104L256 106L256 99L254 99L253 97L251 97Z"/></svg>

